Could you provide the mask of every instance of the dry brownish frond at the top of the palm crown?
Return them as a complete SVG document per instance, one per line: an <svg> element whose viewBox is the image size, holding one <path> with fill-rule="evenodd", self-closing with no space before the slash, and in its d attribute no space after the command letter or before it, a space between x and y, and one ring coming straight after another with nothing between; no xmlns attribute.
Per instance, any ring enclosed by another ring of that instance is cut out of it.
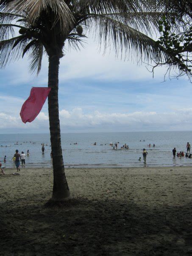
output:
<svg viewBox="0 0 192 256"><path fill-rule="evenodd" d="M58 20L61 24L61 30L68 29L74 21L72 12L64 0L13 0L4 7L3 11L26 14L30 24L39 19L43 11L47 14L52 11L56 15L55 21Z"/></svg>

